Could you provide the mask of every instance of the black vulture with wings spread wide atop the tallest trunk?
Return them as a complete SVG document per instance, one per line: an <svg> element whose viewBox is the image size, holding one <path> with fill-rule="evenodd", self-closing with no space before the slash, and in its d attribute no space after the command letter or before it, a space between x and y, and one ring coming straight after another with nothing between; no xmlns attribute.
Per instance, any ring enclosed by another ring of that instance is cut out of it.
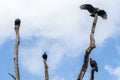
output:
<svg viewBox="0 0 120 80"><path fill-rule="evenodd" d="M97 13L98 16L101 16L103 19L107 19L107 14L104 10L100 10L99 8L95 8L91 4L83 4L80 6L80 9L88 10L88 12L91 13L90 16L92 16L92 17L95 17L95 14Z"/></svg>

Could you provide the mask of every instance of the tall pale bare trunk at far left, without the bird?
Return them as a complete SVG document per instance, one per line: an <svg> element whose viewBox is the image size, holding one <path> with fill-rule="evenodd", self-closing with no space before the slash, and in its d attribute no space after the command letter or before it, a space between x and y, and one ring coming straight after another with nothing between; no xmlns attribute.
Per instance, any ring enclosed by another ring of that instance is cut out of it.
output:
<svg viewBox="0 0 120 80"><path fill-rule="evenodd" d="M15 78L16 78L16 80L20 80L19 64L18 64L18 48L19 48L19 44L20 44L19 26L15 25L14 29L16 32L16 43L15 43L15 49L14 49Z"/></svg>

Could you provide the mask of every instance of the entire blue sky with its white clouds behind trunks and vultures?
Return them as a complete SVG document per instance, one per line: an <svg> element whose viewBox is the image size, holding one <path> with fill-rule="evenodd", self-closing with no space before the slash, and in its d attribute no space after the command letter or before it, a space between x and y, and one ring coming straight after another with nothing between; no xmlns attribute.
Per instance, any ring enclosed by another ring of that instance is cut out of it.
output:
<svg viewBox="0 0 120 80"><path fill-rule="evenodd" d="M44 80L41 55L48 54L50 80L76 80L89 46L93 22L81 4L89 3L108 14L98 18L96 48L90 57L98 63L95 80L120 80L119 0L0 0L0 79L14 74L14 20L21 19L19 65L21 80ZM84 80L90 78L90 66Z"/></svg>

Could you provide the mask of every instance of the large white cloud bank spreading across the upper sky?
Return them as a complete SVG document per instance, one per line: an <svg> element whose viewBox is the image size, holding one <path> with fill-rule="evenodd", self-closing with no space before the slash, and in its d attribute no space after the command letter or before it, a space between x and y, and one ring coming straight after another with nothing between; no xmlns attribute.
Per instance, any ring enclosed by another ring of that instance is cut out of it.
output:
<svg viewBox="0 0 120 80"><path fill-rule="evenodd" d="M21 49L23 67L40 75L40 68L43 66L40 57L47 50L48 64L55 69L64 56L76 57L89 44L93 18L89 17L87 11L79 9L83 3L91 3L107 11L108 19L102 20L99 17L97 22L95 39L98 45L103 45L107 38L119 33L116 25L120 17L120 11L117 10L120 3L118 0L1 0L0 44L15 36L14 19L20 18L21 39L38 39L33 47L23 46Z"/></svg>

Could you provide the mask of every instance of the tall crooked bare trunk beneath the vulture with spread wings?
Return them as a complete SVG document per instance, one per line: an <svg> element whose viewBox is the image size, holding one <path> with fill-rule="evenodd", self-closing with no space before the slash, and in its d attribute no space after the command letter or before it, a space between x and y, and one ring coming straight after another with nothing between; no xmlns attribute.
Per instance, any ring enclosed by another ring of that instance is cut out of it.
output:
<svg viewBox="0 0 120 80"><path fill-rule="evenodd" d="M90 45L86 49L86 52L85 52L85 55L84 55L84 63L82 65L82 68L81 68L81 71L80 71L80 74L79 74L77 80L82 80L83 79L83 77L85 75L85 72L87 71L89 55L90 55L91 51L96 47L95 46L94 33L95 33L95 27L96 27L97 19L98 19L98 14L95 15L95 18L94 18L94 21L93 21L91 34L90 34Z"/></svg>

